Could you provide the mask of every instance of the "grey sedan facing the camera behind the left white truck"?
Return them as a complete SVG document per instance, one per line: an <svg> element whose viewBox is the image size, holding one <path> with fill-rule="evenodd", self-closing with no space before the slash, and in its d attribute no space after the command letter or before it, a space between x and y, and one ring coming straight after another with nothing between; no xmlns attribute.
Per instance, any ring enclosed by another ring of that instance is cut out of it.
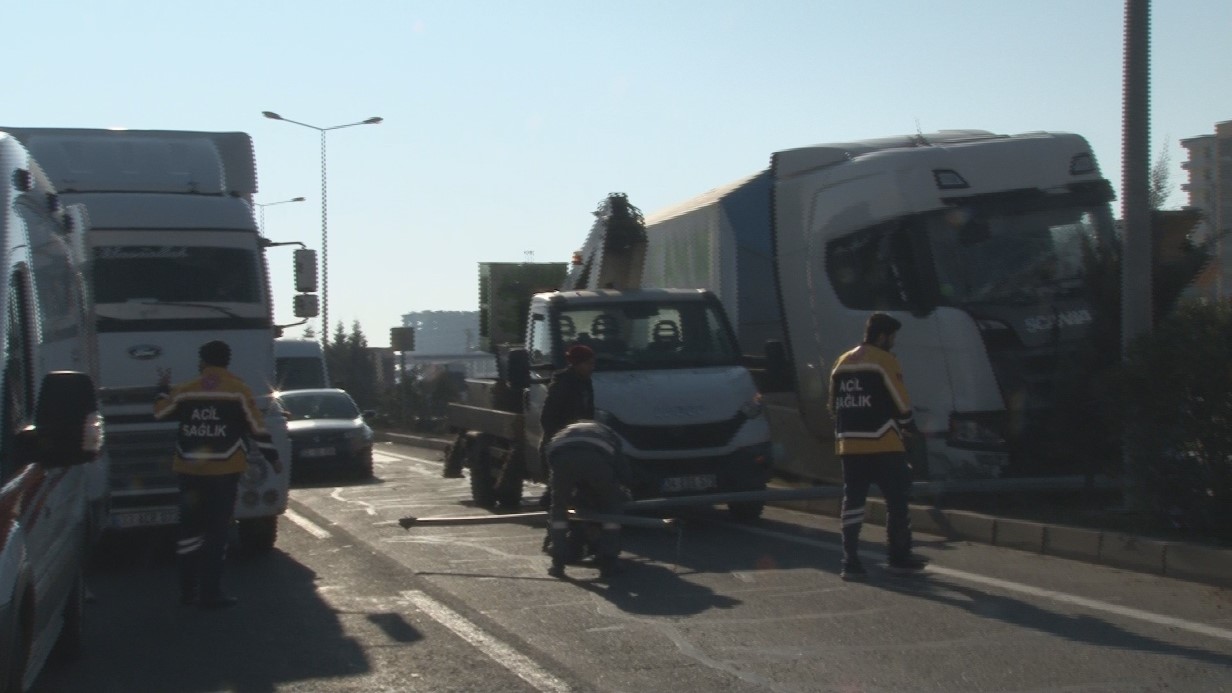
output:
<svg viewBox="0 0 1232 693"><path fill-rule="evenodd" d="M372 476L372 428L345 390L293 390L277 395L287 413L291 471Z"/></svg>

